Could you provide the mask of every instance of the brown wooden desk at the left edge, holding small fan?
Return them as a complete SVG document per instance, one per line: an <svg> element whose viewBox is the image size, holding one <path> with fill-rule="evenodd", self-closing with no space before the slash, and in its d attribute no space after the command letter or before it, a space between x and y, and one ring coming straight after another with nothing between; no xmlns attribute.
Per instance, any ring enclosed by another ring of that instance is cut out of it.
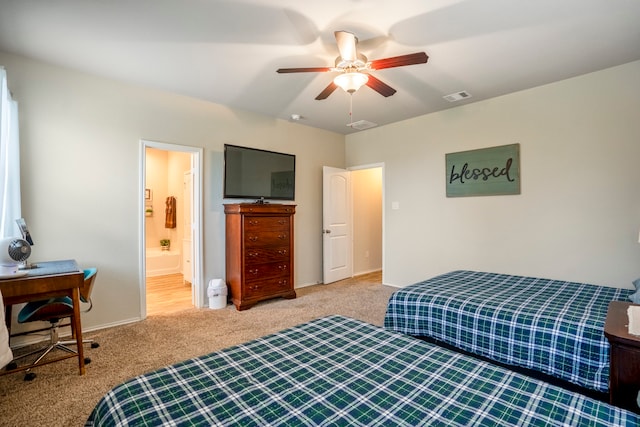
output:
<svg viewBox="0 0 640 427"><path fill-rule="evenodd" d="M82 348L82 326L80 322L80 287L84 284L84 273L74 260L48 261L36 263L37 267L28 270L26 276L0 280L0 291L6 307L6 320L11 330L11 305L29 301L38 301L52 297L69 296L73 300L71 323L76 335L77 354L65 354L53 360L37 365L25 365L7 370L0 375L9 374L47 363L57 362L70 357L78 357L80 375L84 375L84 352Z"/></svg>

